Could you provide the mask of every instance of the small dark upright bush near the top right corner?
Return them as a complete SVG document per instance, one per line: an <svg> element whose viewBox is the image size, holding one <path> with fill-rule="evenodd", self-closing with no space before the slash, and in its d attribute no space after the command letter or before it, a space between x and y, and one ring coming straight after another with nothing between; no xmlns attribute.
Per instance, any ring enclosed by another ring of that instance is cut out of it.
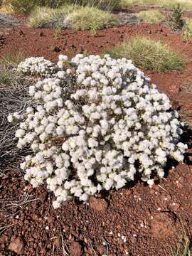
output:
<svg viewBox="0 0 192 256"><path fill-rule="evenodd" d="M177 6L174 6L174 9L172 10L172 14L169 17L169 23L173 31L178 31L183 28L184 21L182 16L183 16L183 9L181 8L180 4L178 4Z"/></svg>

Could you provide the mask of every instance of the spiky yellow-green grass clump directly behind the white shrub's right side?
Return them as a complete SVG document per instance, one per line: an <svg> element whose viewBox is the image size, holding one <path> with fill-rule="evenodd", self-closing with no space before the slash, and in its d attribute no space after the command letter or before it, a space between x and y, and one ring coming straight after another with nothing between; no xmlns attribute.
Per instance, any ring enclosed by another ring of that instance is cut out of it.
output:
<svg viewBox="0 0 192 256"><path fill-rule="evenodd" d="M112 50L107 50L107 53L113 58L131 59L142 70L168 72L182 70L185 65L183 58L169 46L143 37L132 38Z"/></svg>

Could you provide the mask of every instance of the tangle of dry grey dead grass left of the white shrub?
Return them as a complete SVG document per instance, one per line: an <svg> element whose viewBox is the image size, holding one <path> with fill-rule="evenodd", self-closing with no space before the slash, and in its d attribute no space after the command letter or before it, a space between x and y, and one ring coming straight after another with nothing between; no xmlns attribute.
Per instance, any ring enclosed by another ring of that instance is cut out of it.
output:
<svg viewBox="0 0 192 256"><path fill-rule="evenodd" d="M12 111L21 111L31 105L28 86L31 78L15 73L11 68L0 68L0 166L7 159L20 159L21 152L16 149L15 131L17 125L10 124L7 115ZM26 153L23 154L28 154Z"/></svg>

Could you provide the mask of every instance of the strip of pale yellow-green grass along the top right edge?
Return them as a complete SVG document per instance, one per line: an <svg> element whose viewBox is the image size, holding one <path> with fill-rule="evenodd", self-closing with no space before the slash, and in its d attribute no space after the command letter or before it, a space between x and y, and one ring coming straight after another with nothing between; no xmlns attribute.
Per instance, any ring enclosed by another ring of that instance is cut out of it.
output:
<svg viewBox="0 0 192 256"><path fill-rule="evenodd" d="M180 4L183 9L192 9L191 0L122 0L122 6L159 6L162 8L173 9L174 6Z"/></svg>

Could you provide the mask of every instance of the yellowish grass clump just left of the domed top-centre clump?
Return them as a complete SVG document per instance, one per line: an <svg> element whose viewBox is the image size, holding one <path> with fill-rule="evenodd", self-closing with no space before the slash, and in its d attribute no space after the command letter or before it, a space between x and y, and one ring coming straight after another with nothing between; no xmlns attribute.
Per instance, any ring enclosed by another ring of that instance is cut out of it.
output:
<svg viewBox="0 0 192 256"><path fill-rule="evenodd" d="M52 21L64 20L71 11L78 9L80 6L75 4L65 4L58 9L52 9L50 7L36 7L30 16L28 17L28 27L30 28L42 28L46 23Z"/></svg>

